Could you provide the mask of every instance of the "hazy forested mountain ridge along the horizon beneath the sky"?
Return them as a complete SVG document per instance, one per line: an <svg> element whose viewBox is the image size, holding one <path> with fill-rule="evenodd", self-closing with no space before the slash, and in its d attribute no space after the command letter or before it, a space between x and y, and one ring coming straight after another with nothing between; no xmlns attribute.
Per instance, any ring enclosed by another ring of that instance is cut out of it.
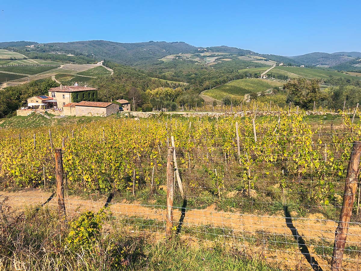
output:
<svg viewBox="0 0 361 271"><path fill-rule="evenodd" d="M35 48L26 46L35 45ZM83 55L94 57L96 59L112 60L117 63L141 66L157 65L165 56L179 53L197 53L197 52L220 52L233 55L244 56L252 54L253 56L264 57L277 62L289 63L292 65L305 66L328 66L330 68L344 68L346 70L361 69L358 65L361 61L361 52L335 52L323 53L313 52L300 56L278 56L256 53L251 50L244 50L235 47L217 46L217 47L195 47L184 42L140 42L140 43L119 43L105 40L87 40L77 42L1 42L0 48L13 47L16 50L35 50L37 52L60 52L74 55Z"/></svg>

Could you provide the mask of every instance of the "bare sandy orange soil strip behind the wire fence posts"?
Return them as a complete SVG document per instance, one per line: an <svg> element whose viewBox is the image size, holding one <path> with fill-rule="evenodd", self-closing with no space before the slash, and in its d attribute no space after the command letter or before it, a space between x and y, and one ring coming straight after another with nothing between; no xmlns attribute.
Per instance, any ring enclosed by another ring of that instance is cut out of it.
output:
<svg viewBox="0 0 361 271"><path fill-rule="evenodd" d="M36 189L31 191L20 192L0 192L0 201L5 197L9 198L8 204L14 209L23 210L27 206L43 204L52 195L51 192L44 192ZM82 199L77 196L65 196L65 205L68 215L76 215L85 210L98 211L106 203L106 198L97 200ZM46 205L48 208L57 210L56 198L51 199ZM110 210L115 217L139 217L147 219L166 220L166 211L153 208L153 205L140 205L139 203L128 203L126 201L109 204ZM181 210L174 210L174 221L178 224L181 217ZM262 235L272 237L277 236L277 240L290 242L295 240L292 236L291 227L297 229L298 235L302 236L305 241L305 247L309 250L311 260L318 263L323 271L330 270L330 256L317 255L313 249L315 242L326 240L333 243L337 223L326 220L322 214L310 214L306 218L292 218L286 223L282 215L255 215L240 214L232 212L223 212L215 209L215 206L209 206L203 210L187 210L183 225L189 227L197 225L209 225L215 228L232 229L230 238L227 239L227 245L239 248L247 255L260 255L267 262L273 263L284 270L311 270L311 266L306 260L305 254L301 254L301 246L290 246L281 248L268 248L265 244L249 244L247 241L241 241L241 236ZM153 233L160 236L160 233ZM359 224L351 224L347 236L347 246L360 247L361 227ZM194 237L183 235L188 241L200 242ZM296 237L297 238L297 237ZM289 240L289 241L287 241ZM305 249L305 248L303 248ZM314 258L313 258L314 257ZM314 270L316 267L313 266ZM291 269L292 268L292 269ZM344 255L343 268L345 270L361 270L361 258Z"/></svg>

